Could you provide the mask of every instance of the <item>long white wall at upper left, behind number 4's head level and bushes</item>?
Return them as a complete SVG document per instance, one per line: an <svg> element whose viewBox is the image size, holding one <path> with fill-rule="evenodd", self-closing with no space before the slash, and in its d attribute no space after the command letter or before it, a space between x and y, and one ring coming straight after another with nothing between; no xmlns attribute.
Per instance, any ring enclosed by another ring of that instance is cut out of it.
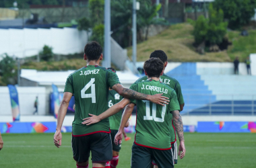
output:
<svg viewBox="0 0 256 168"><path fill-rule="evenodd" d="M88 39L86 31L76 28L0 29L0 37L0 54L19 58L38 54L44 45L53 47L55 54L83 52Z"/></svg>

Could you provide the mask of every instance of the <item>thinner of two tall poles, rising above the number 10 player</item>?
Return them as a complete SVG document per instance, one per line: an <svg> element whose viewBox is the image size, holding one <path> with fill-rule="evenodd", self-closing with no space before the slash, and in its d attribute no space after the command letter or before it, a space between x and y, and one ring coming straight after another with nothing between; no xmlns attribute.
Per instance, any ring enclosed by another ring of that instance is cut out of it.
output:
<svg viewBox="0 0 256 168"><path fill-rule="evenodd" d="M136 0L133 0L133 73L136 73L137 60L137 24L136 24Z"/></svg>

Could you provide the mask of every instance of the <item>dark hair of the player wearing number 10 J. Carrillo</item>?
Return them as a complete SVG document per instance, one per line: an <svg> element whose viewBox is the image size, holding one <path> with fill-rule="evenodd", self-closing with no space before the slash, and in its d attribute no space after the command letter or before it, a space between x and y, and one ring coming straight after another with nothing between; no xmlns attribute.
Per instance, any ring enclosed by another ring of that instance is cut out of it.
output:
<svg viewBox="0 0 256 168"><path fill-rule="evenodd" d="M144 63L143 69L148 73L148 77L160 77L164 63L159 58L150 58Z"/></svg>

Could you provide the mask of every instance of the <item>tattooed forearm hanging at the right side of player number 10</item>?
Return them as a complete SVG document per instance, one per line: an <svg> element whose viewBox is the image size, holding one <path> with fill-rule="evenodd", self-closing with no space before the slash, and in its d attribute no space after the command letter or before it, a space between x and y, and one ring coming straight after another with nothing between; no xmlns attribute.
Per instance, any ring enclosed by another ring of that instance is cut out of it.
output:
<svg viewBox="0 0 256 168"><path fill-rule="evenodd" d="M183 122L182 122L182 118L181 118L181 114L179 113L179 110L172 111L172 118L174 121L174 127L177 131L179 140L181 142L181 140L184 140L184 136L183 136Z"/></svg>

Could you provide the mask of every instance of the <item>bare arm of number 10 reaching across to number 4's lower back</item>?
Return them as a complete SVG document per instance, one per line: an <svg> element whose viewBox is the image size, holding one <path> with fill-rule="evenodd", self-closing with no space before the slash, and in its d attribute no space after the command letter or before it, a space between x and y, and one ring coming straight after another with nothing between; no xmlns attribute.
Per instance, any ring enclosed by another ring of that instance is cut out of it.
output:
<svg viewBox="0 0 256 168"><path fill-rule="evenodd" d="M94 114L89 114L91 117L84 118L83 120L85 121L82 122L82 124L90 125L90 124L95 124L97 122L100 122L100 120L103 120L105 118L108 118L109 116L113 116L114 114L117 114L118 112L120 112L120 110L125 108L125 106L127 106L127 104L130 102L131 101L129 99L124 98L121 101L119 101L119 103L116 103L114 106L112 106L111 108L108 108L108 110L106 110L105 112L103 112L98 116Z"/></svg>

